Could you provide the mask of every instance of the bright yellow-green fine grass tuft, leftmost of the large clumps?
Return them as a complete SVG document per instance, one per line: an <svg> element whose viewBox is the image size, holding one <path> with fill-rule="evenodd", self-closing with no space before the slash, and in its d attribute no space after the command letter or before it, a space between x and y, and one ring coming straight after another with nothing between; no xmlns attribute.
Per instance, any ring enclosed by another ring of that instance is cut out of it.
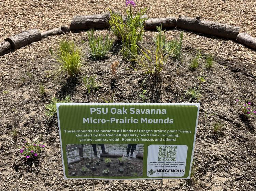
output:
<svg viewBox="0 0 256 191"><path fill-rule="evenodd" d="M56 68L52 73L54 79L63 78L66 74L77 78L80 73L83 74L83 70L87 70L82 61L82 50L73 41L61 41L57 52L54 54L51 49L50 52L59 63L54 66Z"/></svg>

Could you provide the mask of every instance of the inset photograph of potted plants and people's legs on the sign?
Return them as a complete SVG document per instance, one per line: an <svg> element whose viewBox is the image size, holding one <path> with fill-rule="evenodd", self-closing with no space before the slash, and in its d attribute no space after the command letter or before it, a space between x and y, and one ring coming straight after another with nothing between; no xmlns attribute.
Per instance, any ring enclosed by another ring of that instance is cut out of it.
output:
<svg viewBox="0 0 256 191"><path fill-rule="evenodd" d="M144 144L66 144L68 175L142 177Z"/></svg>

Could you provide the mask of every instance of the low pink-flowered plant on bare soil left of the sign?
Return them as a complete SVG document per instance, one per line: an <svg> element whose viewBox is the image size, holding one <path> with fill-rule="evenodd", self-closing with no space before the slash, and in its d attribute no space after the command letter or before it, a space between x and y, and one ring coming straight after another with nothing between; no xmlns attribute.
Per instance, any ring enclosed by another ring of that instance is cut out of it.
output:
<svg viewBox="0 0 256 191"><path fill-rule="evenodd" d="M34 143L28 143L25 140L22 147L18 146L18 149L20 149L19 153L25 157L25 160L37 159L37 157L45 147L44 142L41 143L41 138L38 142L35 141Z"/></svg>

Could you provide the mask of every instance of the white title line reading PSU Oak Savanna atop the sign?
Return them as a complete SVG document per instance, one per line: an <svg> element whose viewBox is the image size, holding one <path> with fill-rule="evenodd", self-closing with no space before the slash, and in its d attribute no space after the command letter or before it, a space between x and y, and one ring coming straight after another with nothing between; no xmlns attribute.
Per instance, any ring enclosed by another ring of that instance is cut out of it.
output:
<svg viewBox="0 0 256 191"><path fill-rule="evenodd" d="M108 108L90 108L91 114L107 114L108 113ZM112 107L110 109L110 112L112 114L127 114L127 109L123 107L123 109L116 109L115 107ZM130 114L166 114L165 109L135 109L135 108L130 108Z"/></svg>

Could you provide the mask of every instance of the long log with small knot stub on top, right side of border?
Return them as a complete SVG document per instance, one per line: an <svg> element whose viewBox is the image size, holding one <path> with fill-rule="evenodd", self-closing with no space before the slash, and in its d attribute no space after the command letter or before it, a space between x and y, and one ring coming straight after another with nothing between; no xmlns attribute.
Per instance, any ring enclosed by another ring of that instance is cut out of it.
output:
<svg viewBox="0 0 256 191"><path fill-rule="evenodd" d="M177 20L177 28L219 36L226 39L236 39L240 30L240 27L200 20L200 17L198 16L196 18L179 16Z"/></svg>

